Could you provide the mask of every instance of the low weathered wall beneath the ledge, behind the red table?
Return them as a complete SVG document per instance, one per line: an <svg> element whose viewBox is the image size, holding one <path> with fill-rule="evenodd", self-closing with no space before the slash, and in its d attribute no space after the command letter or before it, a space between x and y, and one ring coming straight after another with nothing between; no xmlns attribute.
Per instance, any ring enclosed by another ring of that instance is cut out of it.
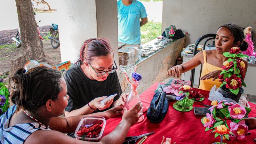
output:
<svg viewBox="0 0 256 144"><path fill-rule="evenodd" d="M147 90L152 84L163 82L168 77L167 70L175 65L177 58L182 52L182 48L185 46L185 39L186 37L173 42L162 51L137 65L137 72L142 76L142 80L137 88L139 94ZM124 76L120 75L119 81L123 92L131 91L130 84L128 84Z"/></svg>

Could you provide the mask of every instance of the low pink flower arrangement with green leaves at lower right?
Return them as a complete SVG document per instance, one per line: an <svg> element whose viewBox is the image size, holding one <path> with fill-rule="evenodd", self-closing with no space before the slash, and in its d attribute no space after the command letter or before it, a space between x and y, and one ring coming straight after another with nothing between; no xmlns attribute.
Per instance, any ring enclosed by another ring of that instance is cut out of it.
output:
<svg viewBox="0 0 256 144"><path fill-rule="evenodd" d="M211 114L206 113L206 116L201 119L205 131L212 130L215 133L215 138L220 136L220 143L231 137L244 138L244 135L248 133L244 117L250 113L251 109L232 102L228 103L226 100L219 103L213 100L211 105L212 107L209 108ZM230 120L232 122L228 124L227 121Z"/></svg>

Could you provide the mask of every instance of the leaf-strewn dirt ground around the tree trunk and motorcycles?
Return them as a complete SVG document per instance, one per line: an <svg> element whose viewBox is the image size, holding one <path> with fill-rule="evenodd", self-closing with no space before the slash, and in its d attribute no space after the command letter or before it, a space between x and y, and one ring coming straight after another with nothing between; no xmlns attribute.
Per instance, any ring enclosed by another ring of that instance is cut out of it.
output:
<svg viewBox="0 0 256 144"><path fill-rule="evenodd" d="M55 60L54 65L57 65L61 63L60 47L57 49L52 48L51 41L47 38L51 36L49 34L50 27L51 26L39 27L39 31L40 36L44 38L44 52L50 56L52 60ZM12 40L12 37L16 36L17 30L18 29L0 31L0 79L5 78L6 74L10 71L11 60L15 60L22 55L22 46L17 48Z"/></svg>

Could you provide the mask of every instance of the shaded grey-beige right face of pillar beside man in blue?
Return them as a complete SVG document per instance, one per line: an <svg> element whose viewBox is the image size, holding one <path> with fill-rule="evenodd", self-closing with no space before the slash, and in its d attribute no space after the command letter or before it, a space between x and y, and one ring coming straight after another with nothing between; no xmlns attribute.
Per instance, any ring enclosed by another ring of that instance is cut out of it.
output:
<svg viewBox="0 0 256 144"><path fill-rule="evenodd" d="M97 35L108 38L118 65L117 3L115 0L96 0Z"/></svg>

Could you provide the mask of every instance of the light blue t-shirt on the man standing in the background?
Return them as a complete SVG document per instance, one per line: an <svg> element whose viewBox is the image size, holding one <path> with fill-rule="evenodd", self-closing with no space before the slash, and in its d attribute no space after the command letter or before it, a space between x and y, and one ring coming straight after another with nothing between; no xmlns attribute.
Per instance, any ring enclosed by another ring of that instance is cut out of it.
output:
<svg viewBox="0 0 256 144"><path fill-rule="evenodd" d="M146 18L144 5L138 0L125 6L122 0L117 2L118 42L140 44L140 18Z"/></svg>

